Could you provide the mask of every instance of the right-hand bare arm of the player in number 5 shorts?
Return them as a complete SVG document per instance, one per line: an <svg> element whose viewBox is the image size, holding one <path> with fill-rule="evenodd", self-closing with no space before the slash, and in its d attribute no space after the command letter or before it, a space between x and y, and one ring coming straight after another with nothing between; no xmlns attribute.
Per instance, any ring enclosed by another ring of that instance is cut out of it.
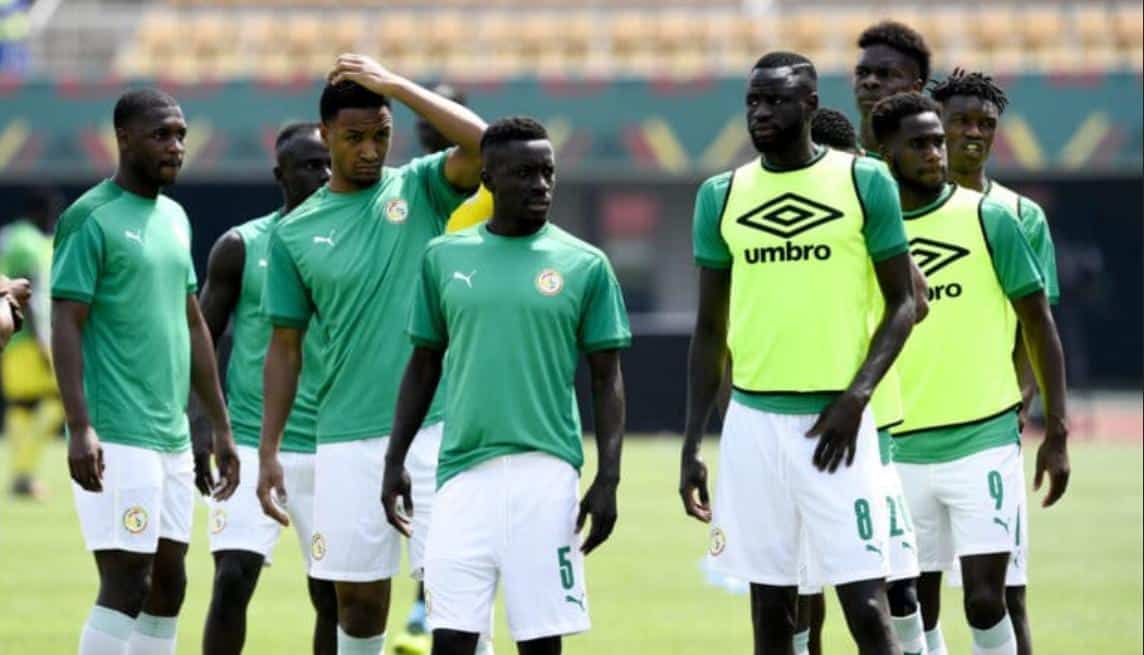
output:
<svg viewBox="0 0 1144 655"><path fill-rule="evenodd" d="M623 446L623 374L620 370L620 351L602 350L588 353L588 372L591 377L593 416L596 417L596 479L593 480L583 500L575 529L583 529L585 520L591 517L591 529L583 540L580 551L588 554L607 541L615 528L618 510L615 489L620 485L620 453Z"/></svg>

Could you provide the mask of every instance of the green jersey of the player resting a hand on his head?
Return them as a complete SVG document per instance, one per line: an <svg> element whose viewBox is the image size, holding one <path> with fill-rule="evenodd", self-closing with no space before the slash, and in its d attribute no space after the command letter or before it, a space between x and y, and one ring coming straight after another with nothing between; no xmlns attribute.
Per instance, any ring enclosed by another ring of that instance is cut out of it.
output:
<svg viewBox="0 0 1144 655"><path fill-rule="evenodd" d="M325 373L318 442L389 434L413 346L405 321L426 245L469 195L445 178L447 152L386 168L368 189L316 191L271 229L263 311L318 329ZM438 398L427 423L442 420Z"/></svg>

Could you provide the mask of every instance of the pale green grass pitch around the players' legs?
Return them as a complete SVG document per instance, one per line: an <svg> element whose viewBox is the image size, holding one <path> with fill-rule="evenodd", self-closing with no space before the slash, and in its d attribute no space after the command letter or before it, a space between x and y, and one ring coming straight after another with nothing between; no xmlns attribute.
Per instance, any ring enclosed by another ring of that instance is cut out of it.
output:
<svg viewBox="0 0 1144 655"><path fill-rule="evenodd" d="M586 444L589 460L593 449ZM1138 444L1075 444L1068 494L1057 508L1032 510L1030 606L1039 654L1141 653L1142 453ZM715 464L714 439L705 454ZM630 438L623 460L617 532L587 562L593 630L566 640L565 652L749 653L746 597L705 583L707 530L684 517L676 494L678 441ZM74 653L95 598L95 568L82 548L61 445L47 453L45 471L54 492L48 503L0 500L0 653ZM585 479L590 476L589 462ZM0 484L7 489L6 478ZM210 592L205 506L194 520L180 653L200 652ZM300 558L286 533L251 606L247 653L307 652L311 610ZM404 623L412 593L407 577L396 581L390 633ZM946 590L944 607L951 653L968 653L959 590ZM496 652L515 653L502 607L495 630ZM827 653L853 652L833 598L825 639Z"/></svg>

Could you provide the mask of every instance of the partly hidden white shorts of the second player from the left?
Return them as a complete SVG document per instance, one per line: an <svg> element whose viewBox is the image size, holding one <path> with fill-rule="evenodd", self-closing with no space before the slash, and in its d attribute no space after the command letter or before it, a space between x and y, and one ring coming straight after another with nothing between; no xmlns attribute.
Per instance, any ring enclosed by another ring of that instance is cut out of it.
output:
<svg viewBox="0 0 1144 655"><path fill-rule="evenodd" d="M256 552L270 561L281 526L263 513L259 502L259 449L239 446L238 461L243 474L235 495L221 503L207 500L210 552L243 550ZM278 454L286 485L283 509L297 533L302 561L308 569L313 538L313 461L315 455L310 453Z"/></svg>

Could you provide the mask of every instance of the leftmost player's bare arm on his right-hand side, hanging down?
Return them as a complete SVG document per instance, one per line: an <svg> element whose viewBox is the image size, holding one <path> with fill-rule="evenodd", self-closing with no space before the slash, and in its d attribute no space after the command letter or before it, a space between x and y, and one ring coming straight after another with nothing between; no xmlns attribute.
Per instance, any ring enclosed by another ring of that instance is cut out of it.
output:
<svg viewBox="0 0 1144 655"><path fill-rule="evenodd" d="M207 330L206 320L199 310L194 294L186 295L186 327L191 337L191 389L199 405L210 421L212 452L219 468L219 484L214 497L225 501L238 488L238 452L235 437L230 432L230 416L227 401L219 385L219 367L215 365L214 342Z"/></svg>

